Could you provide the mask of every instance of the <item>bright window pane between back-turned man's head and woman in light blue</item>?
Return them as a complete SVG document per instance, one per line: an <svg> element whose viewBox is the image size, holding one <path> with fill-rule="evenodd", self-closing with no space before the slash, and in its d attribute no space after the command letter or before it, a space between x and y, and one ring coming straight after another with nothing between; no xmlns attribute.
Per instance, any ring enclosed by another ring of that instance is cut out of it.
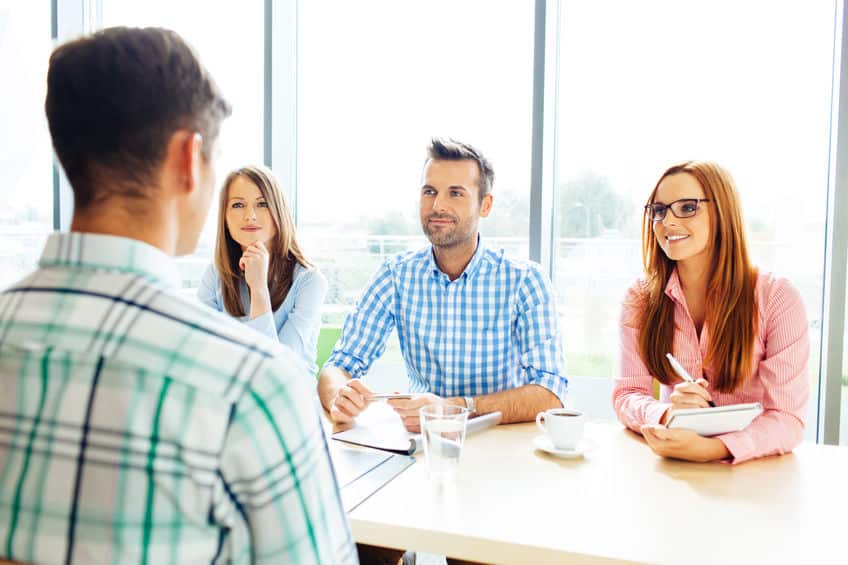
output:
<svg viewBox="0 0 848 565"><path fill-rule="evenodd" d="M103 0L102 25L173 29L190 43L233 106L218 138L218 185L232 169L263 157L264 2ZM183 285L196 287L212 260L218 198L212 200L197 251L179 261Z"/></svg>

